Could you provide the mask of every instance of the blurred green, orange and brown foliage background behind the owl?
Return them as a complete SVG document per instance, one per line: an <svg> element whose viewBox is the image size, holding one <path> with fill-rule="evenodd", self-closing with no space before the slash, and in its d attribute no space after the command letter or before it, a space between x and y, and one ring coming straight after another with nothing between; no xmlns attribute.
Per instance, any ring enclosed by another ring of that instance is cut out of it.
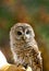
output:
<svg viewBox="0 0 49 71"><path fill-rule="evenodd" d="M42 52L44 71L49 71L49 0L0 0L0 49L12 62L10 29L17 22L29 23Z"/></svg>

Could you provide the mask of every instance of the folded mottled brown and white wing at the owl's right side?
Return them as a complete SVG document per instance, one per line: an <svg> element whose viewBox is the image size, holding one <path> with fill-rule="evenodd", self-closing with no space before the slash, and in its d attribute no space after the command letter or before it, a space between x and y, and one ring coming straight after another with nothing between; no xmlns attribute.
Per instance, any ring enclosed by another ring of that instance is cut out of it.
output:
<svg viewBox="0 0 49 71"><path fill-rule="evenodd" d="M39 71L42 71L41 52L39 51L35 39L33 39L33 58L34 58L35 66L40 69ZM38 71L38 70L36 70L36 71Z"/></svg>

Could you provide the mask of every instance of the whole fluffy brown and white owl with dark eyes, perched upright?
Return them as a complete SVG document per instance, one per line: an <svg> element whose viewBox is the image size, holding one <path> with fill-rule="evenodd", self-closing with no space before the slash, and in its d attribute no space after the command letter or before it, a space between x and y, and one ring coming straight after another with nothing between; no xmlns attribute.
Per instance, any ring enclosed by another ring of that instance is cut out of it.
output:
<svg viewBox="0 0 49 71"><path fill-rule="evenodd" d="M10 45L16 66L29 66L33 71L42 71L42 59L29 24L17 23L11 27Z"/></svg>

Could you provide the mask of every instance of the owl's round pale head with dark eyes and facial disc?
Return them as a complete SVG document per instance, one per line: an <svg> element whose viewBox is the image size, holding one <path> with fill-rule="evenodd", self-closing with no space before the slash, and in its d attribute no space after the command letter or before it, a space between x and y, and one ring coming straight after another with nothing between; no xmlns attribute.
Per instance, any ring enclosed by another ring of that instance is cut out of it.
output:
<svg viewBox="0 0 49 71"><path fill-rule="evenodd" d="M28 40L29 38L35 37L33 27L27 23L16 23L11 27L11 33L17 40Z"/></svg>

